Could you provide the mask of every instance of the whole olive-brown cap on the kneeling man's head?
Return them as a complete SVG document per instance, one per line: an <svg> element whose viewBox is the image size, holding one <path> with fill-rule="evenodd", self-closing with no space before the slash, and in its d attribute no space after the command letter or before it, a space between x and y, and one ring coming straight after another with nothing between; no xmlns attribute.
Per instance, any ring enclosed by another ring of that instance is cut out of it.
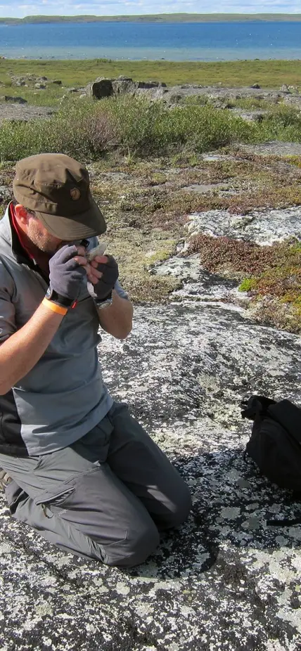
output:
<svg viewBox="0 0 301 651"><path fill-rule="evenodd" d="M19 160L15 172L15 199L34 210L51 235L72 241L105 232L89 172L81 163L65 154L38 154Z"/></svg>

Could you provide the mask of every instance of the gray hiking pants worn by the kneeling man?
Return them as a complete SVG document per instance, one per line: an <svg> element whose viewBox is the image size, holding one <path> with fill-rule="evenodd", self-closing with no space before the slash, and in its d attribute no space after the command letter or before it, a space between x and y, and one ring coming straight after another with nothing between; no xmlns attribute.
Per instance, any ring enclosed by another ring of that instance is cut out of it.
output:
<svg viewBox="0 0 301 651"><path fill-rule="evenodd" d="M11 514L60 549L107 565L139 565L159 531L191 508L188 487L124 404L91 432L41 456L0 454Z"/></svg>

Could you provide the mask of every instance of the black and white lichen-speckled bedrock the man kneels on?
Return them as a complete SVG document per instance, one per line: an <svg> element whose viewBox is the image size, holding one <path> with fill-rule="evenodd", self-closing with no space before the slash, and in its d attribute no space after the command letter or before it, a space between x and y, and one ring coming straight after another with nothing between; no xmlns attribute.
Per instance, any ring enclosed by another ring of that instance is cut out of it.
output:
<svg viewBox="0 0 301 651"><path fill-rule="evenodd" d="M282 211L282 224L278 211L257 214L243 231L207 213L198 232L269 243L297 234L298 210ZM181 278L182 295L136 307L132 335L103 335L99 358L113 397L188 482L193 510L148 562L122 571L49 546L1 497L1 651L300 649L301 526L267 520L300 517L301 505L243 460L240 402L260 393L301 404L301 339L226 302L236 283L206 275L196 256L152 273Z"/></svg>

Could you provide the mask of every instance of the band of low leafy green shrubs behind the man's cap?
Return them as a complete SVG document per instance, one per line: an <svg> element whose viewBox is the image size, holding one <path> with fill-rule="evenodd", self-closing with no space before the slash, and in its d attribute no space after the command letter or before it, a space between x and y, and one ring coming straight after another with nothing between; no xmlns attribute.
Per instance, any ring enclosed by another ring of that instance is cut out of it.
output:
<svg viewBox="0 0 301 651"><path fill-rule="evenodd" d="M18 160L43 151L62 151L83 160L119 148L140 157L202 153L231 143L271 138L301 140L296 112L273 113L261 124L246 122L211 105L176 105L145 97L120 96L100 102L70 100L50 118L4 121L0 128L1 160Z"/></svg>

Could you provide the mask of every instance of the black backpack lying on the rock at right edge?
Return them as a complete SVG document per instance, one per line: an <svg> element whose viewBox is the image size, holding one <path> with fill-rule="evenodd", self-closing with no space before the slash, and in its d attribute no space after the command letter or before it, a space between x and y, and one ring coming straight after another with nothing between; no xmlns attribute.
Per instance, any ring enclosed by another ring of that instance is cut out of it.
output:
<svg viewBox="0 0 301 651"><path fill-rule="evenodd" d="M300 498L301 409L290 400L276 402L265 396L251 396L241 407L243 418L254 421L245 458L250 456L271 482L294 491ZM269 524L285 522L272 520Z"/></svg>

